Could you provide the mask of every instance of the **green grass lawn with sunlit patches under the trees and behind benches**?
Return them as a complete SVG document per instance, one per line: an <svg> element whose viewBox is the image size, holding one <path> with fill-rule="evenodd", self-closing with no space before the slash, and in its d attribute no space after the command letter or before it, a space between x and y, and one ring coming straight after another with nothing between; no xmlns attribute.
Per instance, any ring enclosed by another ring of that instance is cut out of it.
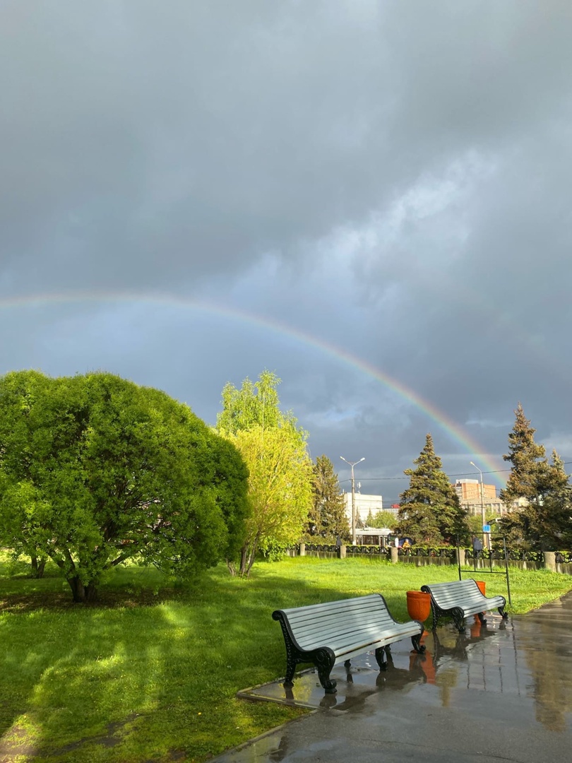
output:
<svg viewBox="0 0 572 763"><path fill-rule="evenodd" d="M506 595L503 576L484 575L487 594ZM247 581L221 565L175 586L131 566L83 606L53 570L31 580L0 563L0 760L9 749L6 760L37 763L204 761L304 712L235 697L284 675L273 610L380 592L409 620L406 591L456 578L455 567L302 558L255 565ZM510 583L509 611L523 613L572 577L511 571Z"/></svg>

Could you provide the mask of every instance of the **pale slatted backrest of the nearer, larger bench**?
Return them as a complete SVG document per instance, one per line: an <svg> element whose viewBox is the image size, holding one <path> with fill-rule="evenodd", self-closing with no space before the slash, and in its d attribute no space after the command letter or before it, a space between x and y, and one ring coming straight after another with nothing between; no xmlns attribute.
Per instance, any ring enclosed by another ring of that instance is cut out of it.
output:
<svg viewBox="0 0 572 763"><path fill-rule="evenodd" d="M381 594L280 611L287 618L294 641L307 650L317 649L345 634L351 636L356 630L363 633L371 629L375 635L395 626Z"/></svg>

